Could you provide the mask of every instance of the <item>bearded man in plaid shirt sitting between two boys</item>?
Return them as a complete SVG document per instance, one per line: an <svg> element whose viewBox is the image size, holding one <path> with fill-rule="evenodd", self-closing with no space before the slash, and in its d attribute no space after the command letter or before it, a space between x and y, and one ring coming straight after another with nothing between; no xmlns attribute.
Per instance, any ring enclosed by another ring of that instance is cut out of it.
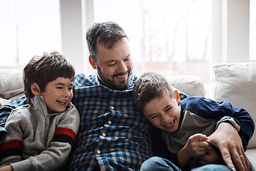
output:
<svg viewBox="0 0 256 171"><path fill-rule="evenodd" d="M114 22L98 23L87 31L87 44L89 63L97 73L79 74L74 82L72 103L81 121L68 170L139 170L153 155L152 127L133 101L137 76L127 35ZM242 138L249 141L247 135ZM246 157L241 139L230 123L221 123L210 140L222 149L228 166L235 168L233 161L238 170L248 170L247 160L240 159Z"/></svg>

